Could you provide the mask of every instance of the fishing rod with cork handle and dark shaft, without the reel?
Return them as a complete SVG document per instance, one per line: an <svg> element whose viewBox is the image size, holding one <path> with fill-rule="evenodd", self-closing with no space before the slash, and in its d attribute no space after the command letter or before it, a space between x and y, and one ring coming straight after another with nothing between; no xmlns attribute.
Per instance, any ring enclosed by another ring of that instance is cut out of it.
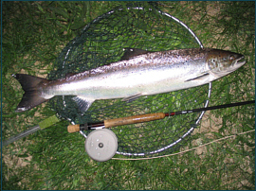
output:
<svg viewBox="0 0 256 191"><path fill-rule="evenodd" d="M121 117L116 119L107 119L101 122L96 123L85 123L85 124L77 124L77 125L69 125L67 127L68 132L78 132L80 130L96 130L101 128L112 128L116 126L123 126L123 125L130 125L130 124L137 124L137 123L144 123L148 121L155 121L159 119L163 119L165 117L170 117L178 114L187 114L187 113L197 113L203 111L210 111L210 110L217 110L223 108L230 108L235 106L242 106L247 104L255 103L255 100L251 101L244 101L244 102L237 102L237 103L229 103L224 105L218 106L211 106L207 108L198 108L193 110L185 110L180 112L172 112L172 113L148 113L148 114L138 114L134 116L128 117Z"/></svg>

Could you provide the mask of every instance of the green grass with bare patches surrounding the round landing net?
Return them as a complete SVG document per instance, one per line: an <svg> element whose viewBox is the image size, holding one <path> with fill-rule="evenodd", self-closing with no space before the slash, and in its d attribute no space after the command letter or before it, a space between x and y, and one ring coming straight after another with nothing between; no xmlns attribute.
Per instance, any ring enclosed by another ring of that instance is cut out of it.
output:
<svg viewBox="0 0 256 191"><path fill-rule="evenodd" d="M64 45L79 34L84 24L125 3L3 2L4 139L54 114L48 104L14 113L23 93L10 75L23 72L46 77ZM204 46L229 49L247 58L243 68L212 83L210 106L254 99L255 3L162 4L165 6L158 5L159 8L190 26ZM200 128L180 151L254 130L254 110L254 106L247 105L206 113ZM3 148L2 188L255 189L254 132L165 158L98 163L84 152L84 138L69 134L67 125L68 121L63 120Z"/></svg>

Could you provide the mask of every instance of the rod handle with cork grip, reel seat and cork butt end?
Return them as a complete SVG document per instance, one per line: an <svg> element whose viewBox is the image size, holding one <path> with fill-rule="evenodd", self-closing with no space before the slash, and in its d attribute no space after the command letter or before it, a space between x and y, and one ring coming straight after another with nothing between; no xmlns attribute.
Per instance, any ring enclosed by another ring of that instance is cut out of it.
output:
<svg viewBox="0 0 256 191"><path fill-rule="evenodd" d="M134 116L121 117L116 119L107 119L104 122L94 123L94 124L77 124L69 125L67 127L68 132L78 132L80 130L91 130L97 127L104 126L105 128L112 128L116 126L123 126L129 124L143 123L148 121L155 121L158 119L163 119L165 113L149 113L149 114L138 114Z"/></svg>

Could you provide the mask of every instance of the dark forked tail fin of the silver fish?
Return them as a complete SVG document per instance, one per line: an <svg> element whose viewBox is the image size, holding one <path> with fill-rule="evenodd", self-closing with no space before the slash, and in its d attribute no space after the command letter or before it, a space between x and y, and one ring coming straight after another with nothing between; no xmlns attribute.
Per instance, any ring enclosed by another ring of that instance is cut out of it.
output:
<svg viewBox="0 0 256 191"><path fill-rule="evenodd" d="M25 74L16 74L12 75L12 77L20 82L22 89L25 91L15 112L25 112L47 100L41 96L41 92L39 91L41 84L48 82L46 78L38 78Z"/></svg>

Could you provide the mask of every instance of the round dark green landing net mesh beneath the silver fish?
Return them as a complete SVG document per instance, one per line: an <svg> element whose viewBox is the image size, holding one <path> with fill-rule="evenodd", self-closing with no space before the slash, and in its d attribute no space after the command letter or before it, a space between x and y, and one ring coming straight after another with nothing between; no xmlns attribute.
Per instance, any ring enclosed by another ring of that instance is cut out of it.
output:
<svg viewBox="0 0 256 191"><path fill-rule="evenodd" d="M48 78L64 78L69 73L119 61L127 47L163 51L200 47L200 42L186 26L155 5L127 4L106 12L85 26L81 34L64 47L55 62L56 69L51 71ZM71 99L73 96L55 96L50 99L50 104L60 117L83 124L143 113L201 108L205 106L208 94L207 84L189 90L141 96L130 103L121 99L96 100L86 113L79 111ZM121 154L162 155L173 152L181 143L183 146L186 144L189 136L184 134L192 130L199 115L190 113L165 117L163 120L119 126L111 130L118 136L118 151Z"/></svg>

